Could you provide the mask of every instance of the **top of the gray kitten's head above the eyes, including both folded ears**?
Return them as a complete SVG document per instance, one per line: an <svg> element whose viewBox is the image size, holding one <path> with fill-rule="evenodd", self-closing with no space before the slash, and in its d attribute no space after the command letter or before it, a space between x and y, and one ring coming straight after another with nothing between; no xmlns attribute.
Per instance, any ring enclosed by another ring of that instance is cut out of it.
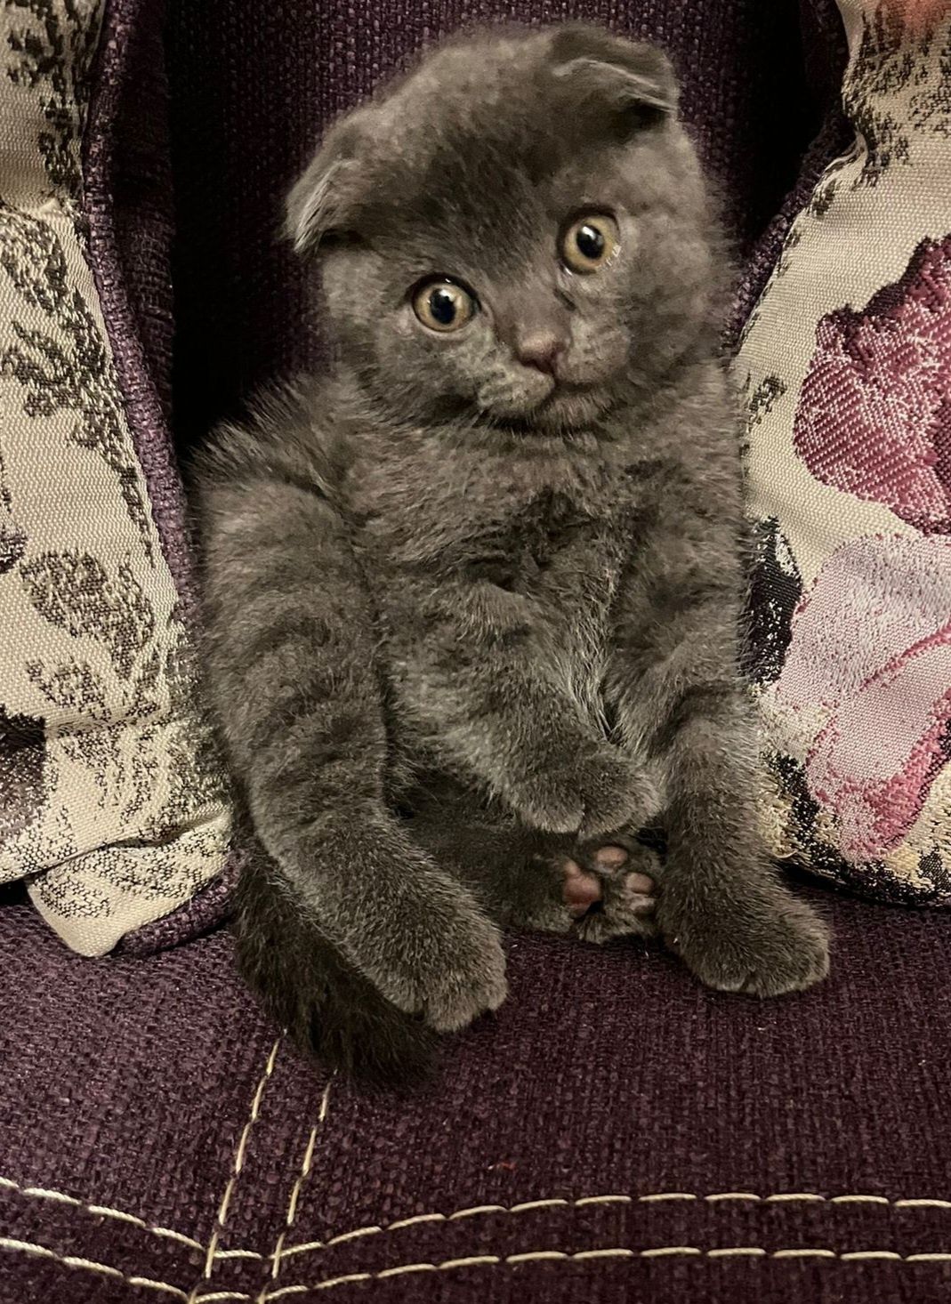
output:
<svg viewBox="0 0 951 1304"><path fill-rule="evenodd" d="M665 194L689 172L660 51L584 25L505 31L430 51L330 129L288 196L299 250L337 232L387 256L438 240L511 263L566 207L614 184L624 206L642 176L644 198Z"/></svg>

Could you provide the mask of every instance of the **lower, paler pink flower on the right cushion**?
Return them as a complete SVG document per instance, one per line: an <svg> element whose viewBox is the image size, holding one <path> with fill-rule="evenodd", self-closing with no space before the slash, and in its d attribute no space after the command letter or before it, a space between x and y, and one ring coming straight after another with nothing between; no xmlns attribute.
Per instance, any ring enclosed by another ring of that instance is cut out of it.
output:
<svg viewBox="0 0 951 1304"><path fill-rule="evenodd" d="M822 717L806 782L835 812L841 853L895 846L948 760L951 540L839 548L798 606L775 692Z"/></svg>

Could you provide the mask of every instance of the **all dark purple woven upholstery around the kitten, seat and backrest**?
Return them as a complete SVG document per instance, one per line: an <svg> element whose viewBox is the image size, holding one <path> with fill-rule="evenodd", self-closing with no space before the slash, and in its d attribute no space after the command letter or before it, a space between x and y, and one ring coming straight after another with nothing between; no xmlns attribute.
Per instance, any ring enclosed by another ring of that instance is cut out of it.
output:
<svg viewBox="0 0 951 1304"><path fill-rule="evenodd" d="M770 218L832 103L834 78L823 90L802 70L797 7L521 8L665 40L737 239L758 250L751 301L792 203ZM429 0L176 0L184 441L310 353L312 335L288 329L305 319L303 282L271 233L321 121L462 13ZM806 42L835 65L830 13L809 7ZM108 8L87 193L103 309L188 595L163 424L158 17L149 0ZM834 145L832 126L806 172ZM230 939L198 936L224 896L213 885L103 961L0 904L0 1304L951 1299L946 917L817 896L836 930L834 975L768 1004L707 992L637 944L514 938L510 1001L400 1099L327 1084L274 1050Z"/></svg>

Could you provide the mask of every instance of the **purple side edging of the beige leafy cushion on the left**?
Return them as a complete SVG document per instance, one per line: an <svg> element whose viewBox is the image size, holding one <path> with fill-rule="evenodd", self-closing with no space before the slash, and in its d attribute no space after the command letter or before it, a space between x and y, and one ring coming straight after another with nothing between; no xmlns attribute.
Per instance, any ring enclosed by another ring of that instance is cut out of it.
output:
<svg viewBox="0 0 951 1304"><path fill-rule="evenodd" d="M197 588L181 473L170 433L174 200L166 0L115 0L106 9L83 140L89 261L123 387L153 516L180 597L197 630ZM120 941L130 955L198 936L227 913L234 866L194 898Z"/></svg>

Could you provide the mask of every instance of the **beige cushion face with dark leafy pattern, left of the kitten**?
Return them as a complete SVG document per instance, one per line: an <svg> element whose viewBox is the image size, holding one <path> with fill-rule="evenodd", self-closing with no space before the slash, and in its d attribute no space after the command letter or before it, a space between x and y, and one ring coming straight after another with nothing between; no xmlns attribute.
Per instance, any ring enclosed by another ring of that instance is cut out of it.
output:
<svg viewBox="0 0 951 1304"><path fill-rule="evenodd" d="M0 880L83 955L187 901L230 832L86 257L102 9L0 8Z"/></svg>

